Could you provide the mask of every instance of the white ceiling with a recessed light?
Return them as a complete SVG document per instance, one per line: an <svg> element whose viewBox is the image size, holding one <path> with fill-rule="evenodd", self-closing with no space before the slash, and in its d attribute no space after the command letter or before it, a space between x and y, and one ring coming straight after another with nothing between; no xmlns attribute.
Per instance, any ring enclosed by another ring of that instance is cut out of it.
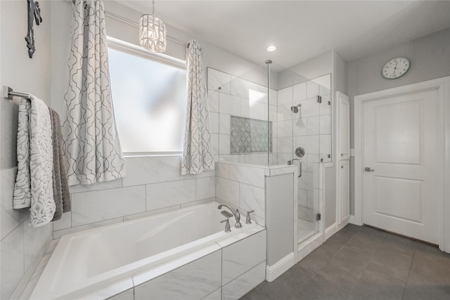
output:
<svg viewBox="0 0 450 300"><path fill-rule="evenodd" d="M151 1L119 1L151 13ZM450 1L170 1L168 25L254 63L297 63L335 49L347 61L450 27ZM170 32L168 32L170 36ZM267 46L275 45L269 53Z"/></svg>

